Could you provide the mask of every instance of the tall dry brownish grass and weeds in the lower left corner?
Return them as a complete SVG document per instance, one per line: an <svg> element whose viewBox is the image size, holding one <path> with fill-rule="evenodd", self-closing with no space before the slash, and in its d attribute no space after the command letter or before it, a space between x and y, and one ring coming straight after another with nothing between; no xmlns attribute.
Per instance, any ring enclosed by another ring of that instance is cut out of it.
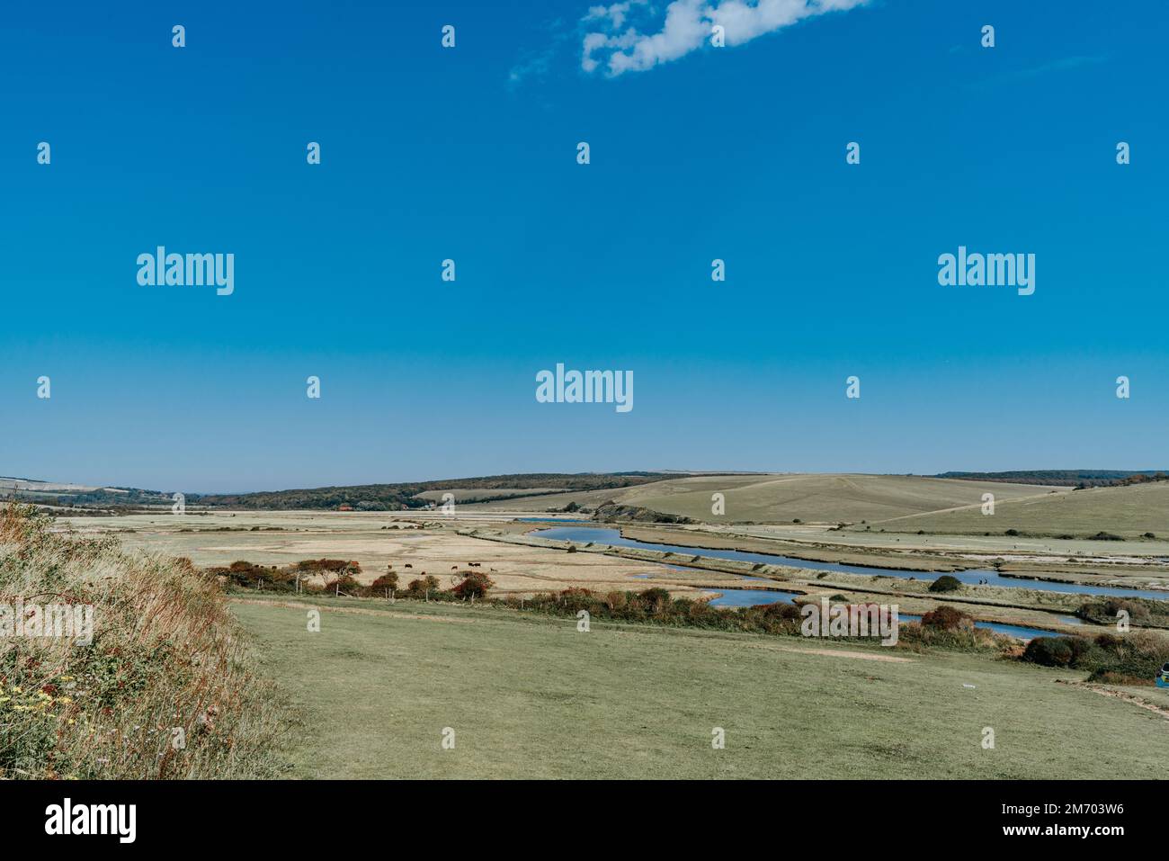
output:
<svg viewBox="0 0 1169 861"><path fill-rule="evenodd" d="M0 514L0 604L92 605L94 638L0 636L0 777L281 773L289 712L215 578L50 526Z"/></svg>

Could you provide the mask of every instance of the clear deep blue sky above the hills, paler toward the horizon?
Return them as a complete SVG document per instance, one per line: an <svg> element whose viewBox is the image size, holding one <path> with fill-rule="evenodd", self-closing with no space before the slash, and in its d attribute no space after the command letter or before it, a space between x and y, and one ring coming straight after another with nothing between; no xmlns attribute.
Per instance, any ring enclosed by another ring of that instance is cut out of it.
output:
<svg viewBox="0 0 1169 861"><path fill-rule="evenodd" d="M0 474L1165 467L1163 4L880 0L696 49L658 1L241 6L6 9ZM159 244L233 253L235 292L139 285ZM960 244L1033 253L1035 295L939 285ZM538 404L556 363L632 371L635 408Z"/></svg>

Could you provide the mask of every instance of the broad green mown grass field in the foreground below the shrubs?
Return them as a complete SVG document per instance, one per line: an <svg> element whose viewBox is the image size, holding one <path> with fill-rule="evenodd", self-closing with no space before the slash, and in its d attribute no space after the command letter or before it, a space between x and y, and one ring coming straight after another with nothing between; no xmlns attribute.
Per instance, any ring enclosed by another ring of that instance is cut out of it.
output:
<svg viewBox="0 0 1169 861"><path fill-rule="evenodd" d="M404 601L320 602L310 633L307 606L233 604L300 711L286 755L305 778L1161 778L1169 767L1164 717L1056 682L1074 674L1008 661L601 624L579 633L572 620ZM715 726L725 750L711 746ZM994 750L981 746L984 726Z"/></svg>

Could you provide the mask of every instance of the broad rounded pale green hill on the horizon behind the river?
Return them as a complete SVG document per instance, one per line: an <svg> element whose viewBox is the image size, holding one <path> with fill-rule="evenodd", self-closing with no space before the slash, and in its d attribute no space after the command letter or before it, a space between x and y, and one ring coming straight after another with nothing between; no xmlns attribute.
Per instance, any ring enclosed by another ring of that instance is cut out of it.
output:
<svg viewBox="0 0 1169 861"><path fill-rule="evenodd" d="M977 505L982 494L998 500L1040 496L1035 484L928 478L919 475L721 475L670 478L622 490L554 494L486 503L489 508L544 511L568 502L597 505L614 500L711 523L870 523L956 505ZM726 514L711 514L711 495L726 497ZM1063 491L1059 491L1063 493Z"/></svg>

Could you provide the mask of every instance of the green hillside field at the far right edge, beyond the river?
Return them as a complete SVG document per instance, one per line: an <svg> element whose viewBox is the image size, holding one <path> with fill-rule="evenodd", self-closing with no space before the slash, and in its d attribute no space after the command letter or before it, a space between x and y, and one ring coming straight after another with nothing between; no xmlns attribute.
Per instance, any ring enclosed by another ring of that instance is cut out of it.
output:
<svg viewBox="0 0 1169 861"><path fill-rule="evenodd" d="M969 535L1008 529L1036 535L1088 536L1105 531L1126 538L1146 532L1169 536L1169 482L1119 488L1088 488L1065 494L1046 494L1032 500L1011 501L995 495L994 516L977 508L962 511L907 517L883 524L898 532L945 532Z"/></svg>

